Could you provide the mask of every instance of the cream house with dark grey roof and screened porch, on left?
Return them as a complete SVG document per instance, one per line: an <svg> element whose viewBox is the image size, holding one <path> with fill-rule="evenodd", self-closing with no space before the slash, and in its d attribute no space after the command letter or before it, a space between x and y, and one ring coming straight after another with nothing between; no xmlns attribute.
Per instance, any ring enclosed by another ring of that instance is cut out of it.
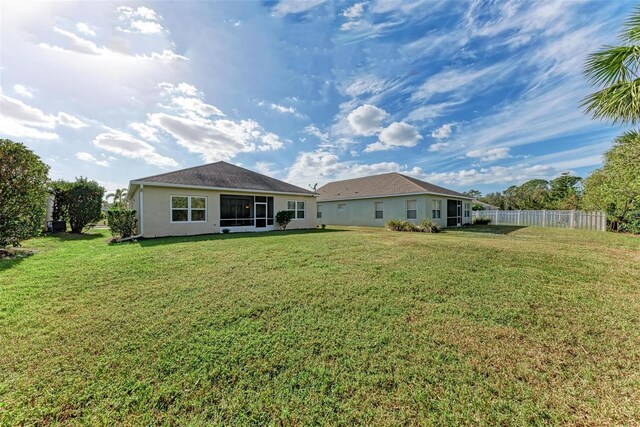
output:
<svg viewBox="0 0 640 427"><path fill-rule="evenodd" d="M134 179L128 198L143 237L274 230L284 210L287 229L316 225L313 192L225 162Z"/></svg>

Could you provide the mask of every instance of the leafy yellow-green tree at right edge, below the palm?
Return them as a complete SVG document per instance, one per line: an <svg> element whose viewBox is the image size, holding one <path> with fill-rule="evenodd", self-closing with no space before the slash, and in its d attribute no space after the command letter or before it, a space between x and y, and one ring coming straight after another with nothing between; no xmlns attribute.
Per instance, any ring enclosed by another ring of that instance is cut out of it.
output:
<svg viewBox="0 0 640 427"><path fill-rule="evenodd" d="M602 168L584 182L584 205L604 210L613 230L640 233L640 132L615 139Z"/></svg>

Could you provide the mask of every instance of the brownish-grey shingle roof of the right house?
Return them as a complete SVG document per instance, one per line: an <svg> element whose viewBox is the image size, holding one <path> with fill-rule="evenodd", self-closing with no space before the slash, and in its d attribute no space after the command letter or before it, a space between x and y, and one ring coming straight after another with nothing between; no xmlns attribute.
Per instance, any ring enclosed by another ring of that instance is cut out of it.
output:
<svg viewBox="0 0 640 427"><path fill-rule="evenodd" d="M364 178L330 182L318 189L318 202L332 200L362 199L383 196L401 196L403 194L441 194L471 199L457 191L420 181L396 172Z"/></svg>

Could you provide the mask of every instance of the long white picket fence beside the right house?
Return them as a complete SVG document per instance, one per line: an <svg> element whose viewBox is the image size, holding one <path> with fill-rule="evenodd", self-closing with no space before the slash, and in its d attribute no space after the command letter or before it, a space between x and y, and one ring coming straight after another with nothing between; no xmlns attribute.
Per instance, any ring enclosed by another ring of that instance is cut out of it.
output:
<svg viewBox="0 0 640 427"><path fill-rule="evenodd" d="M607 230L604 212L585 211L473 211L472 218L489 218L492 225Z"/></svg>

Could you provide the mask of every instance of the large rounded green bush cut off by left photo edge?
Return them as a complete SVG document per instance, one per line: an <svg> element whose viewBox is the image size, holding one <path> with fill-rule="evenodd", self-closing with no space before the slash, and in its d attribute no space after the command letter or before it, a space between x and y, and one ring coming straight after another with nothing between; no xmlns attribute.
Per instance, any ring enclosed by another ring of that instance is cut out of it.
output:
<svg viewBox="0 0 640 427"><path fill-rule="evenodd" d="M0 247L37 235L47 209L49 166L23 144L0 139Z"/></svg>

